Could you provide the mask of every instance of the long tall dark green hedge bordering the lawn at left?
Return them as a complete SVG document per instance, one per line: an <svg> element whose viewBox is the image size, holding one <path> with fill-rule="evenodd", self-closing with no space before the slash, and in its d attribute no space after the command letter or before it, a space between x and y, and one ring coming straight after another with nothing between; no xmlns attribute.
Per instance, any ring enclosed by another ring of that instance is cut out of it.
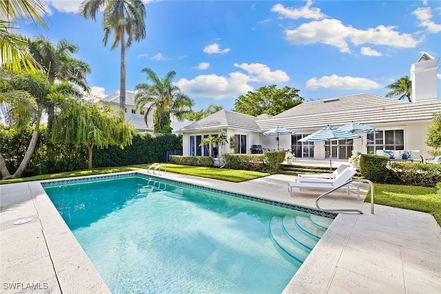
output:
<svg viewBox="0 0 441 294"><path fill-rule="evenodd" d="M46 134L47 128L41 125L37 146L23 171L23 177L88 168L88 149L85 145L54 144ZM31 136L31 128L18 132L0 127L1 154L11 174L23 160ZM182 150L182 137L174 134L136 133L132 145L125 149L116 146L105 149L94 147L92 165L97 168L165 162L167 150Z"/></svg>

